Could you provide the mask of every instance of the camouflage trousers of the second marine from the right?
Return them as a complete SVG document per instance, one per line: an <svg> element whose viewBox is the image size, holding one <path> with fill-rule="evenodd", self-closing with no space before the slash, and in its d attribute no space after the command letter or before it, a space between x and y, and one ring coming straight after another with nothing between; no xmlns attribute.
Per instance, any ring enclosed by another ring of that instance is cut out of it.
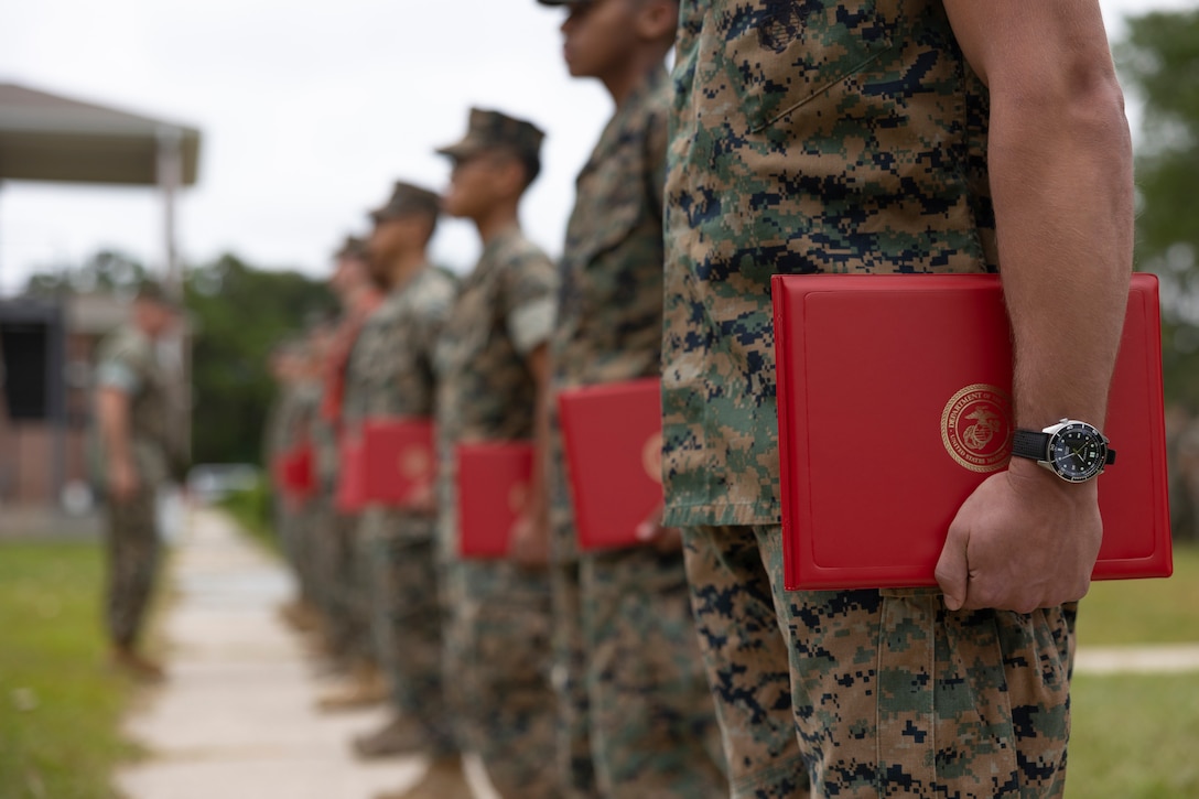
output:
<svg viewBox="0 0 1199 799"><path fill-rule="evenodd" d="M591 751L604 797L727 797L682 555L583 559Z"/></svg>

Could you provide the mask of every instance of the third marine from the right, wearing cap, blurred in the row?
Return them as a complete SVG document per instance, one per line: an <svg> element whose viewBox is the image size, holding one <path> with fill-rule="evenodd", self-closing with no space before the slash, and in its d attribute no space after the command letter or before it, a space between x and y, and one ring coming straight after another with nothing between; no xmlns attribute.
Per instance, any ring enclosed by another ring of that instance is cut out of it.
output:
<svg viewBox="0 0 1199 799"><path fill-rule="evenodd" d="M442 210L474 222L483 242L435 359L439 546L451 608L446 680L456 689L459 744L480 753L508 799L561 793L553 765L549 579L544 547L537 547L544 543L546 498L535 481L513 530L512 558L460 559L453 451L460 443L535 437L538 389L549 379L556 280L549 258L520 232L518 208L541 170L541 140L526 121L475 109L465 138L439 150L453 161ZM435 780L459 768L457 759L435 762L429 782L409 795L441 797Z"/></svg>

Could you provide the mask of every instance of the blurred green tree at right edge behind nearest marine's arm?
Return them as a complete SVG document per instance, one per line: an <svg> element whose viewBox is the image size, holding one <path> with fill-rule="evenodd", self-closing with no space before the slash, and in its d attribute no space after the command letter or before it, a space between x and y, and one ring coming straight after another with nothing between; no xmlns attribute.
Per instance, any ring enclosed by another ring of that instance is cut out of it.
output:
<svg viewBox="0 0 1199 799"><path fill-rule="evenodd" d="M1116 48L1144 103L1137 263L1162 280L1167 397L1199 409L1199 10L1128 19Z"/></svg>

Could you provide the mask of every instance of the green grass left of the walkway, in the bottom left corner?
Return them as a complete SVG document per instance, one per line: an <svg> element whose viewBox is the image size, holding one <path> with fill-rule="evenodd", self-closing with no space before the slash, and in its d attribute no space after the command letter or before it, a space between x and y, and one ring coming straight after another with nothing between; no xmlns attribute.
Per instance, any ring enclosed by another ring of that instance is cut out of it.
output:
<svg viewBox="0 0 1199 799"><path fill-rule="evenodd" d="M108 672L96 543L0 542L0 795L112 799L134 757L132 686Z"/></svg>

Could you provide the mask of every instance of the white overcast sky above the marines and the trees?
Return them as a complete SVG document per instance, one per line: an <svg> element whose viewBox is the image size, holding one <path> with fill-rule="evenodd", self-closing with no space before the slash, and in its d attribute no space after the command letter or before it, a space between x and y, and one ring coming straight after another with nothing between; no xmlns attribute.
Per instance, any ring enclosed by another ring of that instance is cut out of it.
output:
<svg viewBox="0 0 1199 799"><path fill-rule="evenodd" d="M1199 0L1102 0L1122 16ZM200 175L180 204L188 263L234 252L264 268L327 269L347 233L406 179L441 188L435 146L471 106L532 120L544 169L523 209L556 253L582 167L611 108L560 58L561 11L535 0L38 0L0 2L0 83L19 83L200 128ZM34 269L116 248L162 263L162 211L145 188L0 186L0 294ZM434 257L469 268L462 222Z"/></svg>

